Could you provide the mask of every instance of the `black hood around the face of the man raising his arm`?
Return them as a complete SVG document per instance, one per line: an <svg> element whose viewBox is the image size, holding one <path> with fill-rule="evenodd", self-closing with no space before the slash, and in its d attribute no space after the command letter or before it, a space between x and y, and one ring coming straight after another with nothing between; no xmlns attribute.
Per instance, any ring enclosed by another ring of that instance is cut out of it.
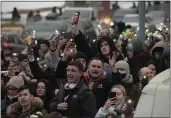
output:
<svg viewBox="0 0 171 118"><path fill-rule="evenodd" d="M108 36L103 36L103 37L100 38L100 40L98 40L98 42L97 42L97 51L98 51L98 53L99 53L100 55L102 55L101 49L100 49L100 44L101 44L103 41L106 41L106 42L109 44L109 47L110 47L110 54L112 54L112 52L113 52L114 50L116 50L116 47L115 47L115 45L114 45L113 40L112 40L110 37L108 37Z"/></svg>

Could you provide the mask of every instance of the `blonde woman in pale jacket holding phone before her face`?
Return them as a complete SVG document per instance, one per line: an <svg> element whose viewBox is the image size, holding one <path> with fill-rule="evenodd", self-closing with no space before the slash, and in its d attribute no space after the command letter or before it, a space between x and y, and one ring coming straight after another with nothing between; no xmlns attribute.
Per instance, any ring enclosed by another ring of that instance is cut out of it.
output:
<svg viewBox="0 0 171 118"><path fill-rule="evenodd" d="M109 114L124 115L127 118L133 116L133 102L126 97L125 88L122 85L114 85L109 92L109 98L101 107L95 118L106 118Z"/></svg>

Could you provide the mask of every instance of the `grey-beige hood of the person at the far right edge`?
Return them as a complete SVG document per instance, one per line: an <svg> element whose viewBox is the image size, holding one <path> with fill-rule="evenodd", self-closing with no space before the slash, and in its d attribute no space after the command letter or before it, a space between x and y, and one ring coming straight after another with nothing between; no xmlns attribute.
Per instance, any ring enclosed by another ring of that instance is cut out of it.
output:
<svg viewBox="0 0 171 118"><path fill-rule="evenodd" d="M151 55L154 55L154 51L155 51L156 48L163 48L163 50L164 50L166 47L167 47L166 42L164 42L164 41L159 41L159 42L157 42L157 43L153 46L153 48L151 49Z"/></svg>

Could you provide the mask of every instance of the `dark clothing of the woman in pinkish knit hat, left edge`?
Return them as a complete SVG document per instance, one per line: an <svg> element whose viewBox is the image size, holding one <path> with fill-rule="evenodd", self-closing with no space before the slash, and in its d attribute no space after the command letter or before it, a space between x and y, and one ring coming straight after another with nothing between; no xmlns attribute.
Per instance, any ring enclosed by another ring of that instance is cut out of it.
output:
<svg viewBox="0 0 171 118"><path fill-rule="evenodd" d="M17 102L17 101L18 101L17 97L12 99L12 100L10 100L9 97L6 96L4 100L1 100L1 113L5 115L7 107L9 105L13 104L14 102Z"/></svg>

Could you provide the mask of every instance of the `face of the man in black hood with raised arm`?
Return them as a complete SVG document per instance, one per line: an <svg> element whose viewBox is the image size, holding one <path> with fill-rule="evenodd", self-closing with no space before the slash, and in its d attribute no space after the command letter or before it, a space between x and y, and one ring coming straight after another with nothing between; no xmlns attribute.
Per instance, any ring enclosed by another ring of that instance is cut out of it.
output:
<svg viewBox="0 0 171 118"><path fill-rule="evenodd" d="M102 55L108 55L110 53L110 47L106 41L100 44L100 49L101 49Z"/></svg>

